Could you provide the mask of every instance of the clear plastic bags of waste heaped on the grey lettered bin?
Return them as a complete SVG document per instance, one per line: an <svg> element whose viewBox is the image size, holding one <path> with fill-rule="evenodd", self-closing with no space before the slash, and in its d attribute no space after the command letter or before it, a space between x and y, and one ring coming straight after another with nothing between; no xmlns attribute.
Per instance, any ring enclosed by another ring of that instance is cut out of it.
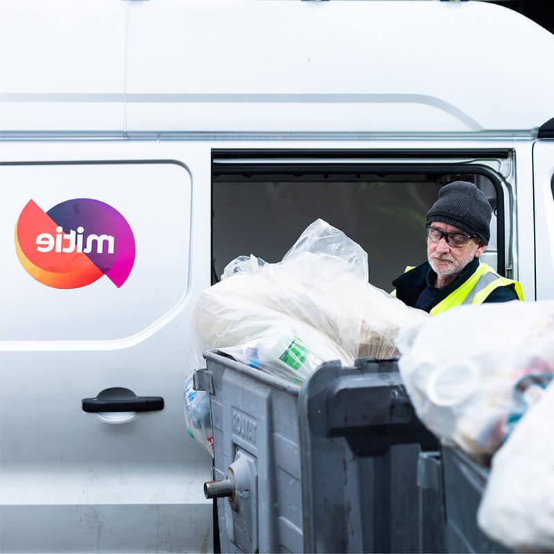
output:
<svg viewBox="0 0 554 554"><path fill-rule="evenodd" d="M352 366L358 357L394 357L400 330L430 316L374 287L368 275L366 251L316 220L280 262L251 254L225 267L195 307L196 350L217 349L296 385L326 361ZM195 426L192 408L208 398L187 395L189 434L206 446L211 429Z"/></svg>

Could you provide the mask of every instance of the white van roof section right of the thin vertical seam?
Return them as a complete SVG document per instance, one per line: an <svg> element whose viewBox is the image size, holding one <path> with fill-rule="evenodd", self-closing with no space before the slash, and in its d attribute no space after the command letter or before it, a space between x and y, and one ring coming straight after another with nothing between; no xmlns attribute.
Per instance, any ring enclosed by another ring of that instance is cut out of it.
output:
<svg viewBox="0 0 554 554"><path fill-rule="evenodd" d="M127 131L528 130L552 116L553 57L483 2L136 2Z"/></svg>

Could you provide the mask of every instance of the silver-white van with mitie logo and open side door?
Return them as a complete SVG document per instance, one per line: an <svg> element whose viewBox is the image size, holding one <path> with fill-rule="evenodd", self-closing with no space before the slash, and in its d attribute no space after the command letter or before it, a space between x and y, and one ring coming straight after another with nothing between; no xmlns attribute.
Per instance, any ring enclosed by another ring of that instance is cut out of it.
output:
<svg viewBox="0 0 554 554"><path fill-rule="evenodd" d="M487 261L554 297L554 36L515 12L3 0L0 51L3 553L213 548L186 324L229 260L317 217L391 289L472 180Z"/></svg>

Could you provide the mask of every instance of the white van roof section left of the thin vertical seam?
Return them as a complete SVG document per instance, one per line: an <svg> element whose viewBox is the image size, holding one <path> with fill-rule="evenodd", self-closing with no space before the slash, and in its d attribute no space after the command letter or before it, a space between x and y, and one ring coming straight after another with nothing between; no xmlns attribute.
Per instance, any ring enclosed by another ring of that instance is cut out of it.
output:
<svg viewBox="0 0 554 554"><path fill-rule="evenodd" d="M0 132L123 132L127 2L0 3Z"/></svg>

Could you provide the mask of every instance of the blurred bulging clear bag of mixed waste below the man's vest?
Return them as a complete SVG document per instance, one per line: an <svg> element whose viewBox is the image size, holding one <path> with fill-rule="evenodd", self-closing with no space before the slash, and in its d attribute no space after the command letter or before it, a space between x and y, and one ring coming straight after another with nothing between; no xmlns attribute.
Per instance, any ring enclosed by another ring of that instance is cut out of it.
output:
<svg viewBox="0 0 554 554"><path fill-rule="evenodd" d="M420 419L487 461L554 373L554 302L461 306L406 328L399 367Z"/></svg>

